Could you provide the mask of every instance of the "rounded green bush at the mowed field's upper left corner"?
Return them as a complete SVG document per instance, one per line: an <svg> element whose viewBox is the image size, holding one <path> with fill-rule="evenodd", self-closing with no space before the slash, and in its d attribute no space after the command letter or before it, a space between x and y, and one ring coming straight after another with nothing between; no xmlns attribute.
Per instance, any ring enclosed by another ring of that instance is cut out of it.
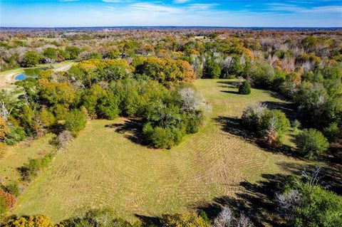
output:
<svg viewBox="0 0 342 227"><path fill-rule="evenodd" d="M87 117L81 110L74 109L66 115L66 130L69 130L73 134L77 134L77 132L83 130L86 127L86 124Z"/></svg>

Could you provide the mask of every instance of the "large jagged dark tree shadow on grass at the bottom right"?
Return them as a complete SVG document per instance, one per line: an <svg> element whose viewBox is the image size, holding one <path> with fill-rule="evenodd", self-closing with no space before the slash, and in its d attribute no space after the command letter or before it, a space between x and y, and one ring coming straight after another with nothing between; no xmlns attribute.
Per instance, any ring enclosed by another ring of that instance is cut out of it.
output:
<svg viewBox="0 0 342 227"><path fill-rule="evenodd" d="M242 181L241 191L234 197L219 196L212 202L194 204L194 207L207 213L211 220L224 206L232 209L234 216L245 213L255 226L284 226L285 220L278 215L274 198L279 192L284 174L262 174L263 179L253 184Z"/></svg>

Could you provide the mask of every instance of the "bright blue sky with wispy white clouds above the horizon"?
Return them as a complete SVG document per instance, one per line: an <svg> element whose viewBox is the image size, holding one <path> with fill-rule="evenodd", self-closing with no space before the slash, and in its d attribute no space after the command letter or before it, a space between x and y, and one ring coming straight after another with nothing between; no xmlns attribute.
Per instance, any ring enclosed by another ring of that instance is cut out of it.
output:
<svg viewBox="0 0 342 227"><path fill-rule="evenodd" d="M0 0L0 26L342 26L342 0Z"/></svg>

